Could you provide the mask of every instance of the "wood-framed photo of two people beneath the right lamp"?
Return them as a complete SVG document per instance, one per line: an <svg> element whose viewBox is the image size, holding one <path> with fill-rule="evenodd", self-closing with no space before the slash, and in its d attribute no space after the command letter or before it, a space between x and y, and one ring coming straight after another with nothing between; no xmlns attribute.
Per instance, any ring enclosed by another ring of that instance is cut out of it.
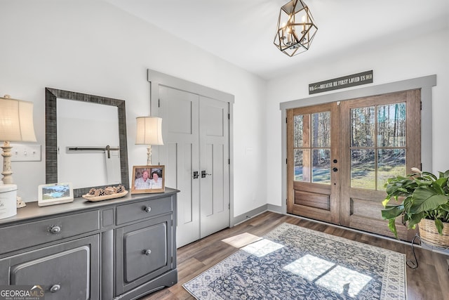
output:
<svg viewBox="0 0 449 300"><path fill-rule="evenodd" d="M165 166L133 166L131 194L163 193Z"/></svg>

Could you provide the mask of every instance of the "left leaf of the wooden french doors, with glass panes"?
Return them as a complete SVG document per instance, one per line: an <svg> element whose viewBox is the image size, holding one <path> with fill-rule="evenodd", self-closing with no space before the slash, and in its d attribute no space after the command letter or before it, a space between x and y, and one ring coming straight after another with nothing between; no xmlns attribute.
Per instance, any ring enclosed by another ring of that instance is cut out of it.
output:
<svg viewBox="0 0 449 300"><path fill-rule="evenodd" d="M337 103L287 111L287 212L339 222L340 160Z"/></svg>

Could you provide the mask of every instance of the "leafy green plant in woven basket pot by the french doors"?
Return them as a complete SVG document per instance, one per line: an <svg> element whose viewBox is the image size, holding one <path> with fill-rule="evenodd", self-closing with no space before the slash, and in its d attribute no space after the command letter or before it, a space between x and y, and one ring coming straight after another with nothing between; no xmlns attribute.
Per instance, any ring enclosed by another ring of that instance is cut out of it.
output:
<svg viewBox="0 0 449 300"><path fill-rule="evenodd" d="M413 174L389 178L385 183L387 197L382 202L382 217L389 220L388 227L396 237L395 221L401 217L408 228L419 224L424 242L449 247L449 170L438 172L438 178L417 168L412 171ZM389 205L391 199L401 203Z"/></svg>

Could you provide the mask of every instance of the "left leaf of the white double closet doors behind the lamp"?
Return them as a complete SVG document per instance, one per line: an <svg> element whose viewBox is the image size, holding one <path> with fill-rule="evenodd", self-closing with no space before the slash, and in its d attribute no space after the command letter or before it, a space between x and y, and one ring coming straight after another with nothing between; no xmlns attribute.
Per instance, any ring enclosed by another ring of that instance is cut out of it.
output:
<svg viewBox="0 0 449 300"><path fill-rule="evenodd" d="M177 188L177 247L199 240L199 96L159 86L159 116L163 146L160 163L166 166L166 186Z"/></svg>

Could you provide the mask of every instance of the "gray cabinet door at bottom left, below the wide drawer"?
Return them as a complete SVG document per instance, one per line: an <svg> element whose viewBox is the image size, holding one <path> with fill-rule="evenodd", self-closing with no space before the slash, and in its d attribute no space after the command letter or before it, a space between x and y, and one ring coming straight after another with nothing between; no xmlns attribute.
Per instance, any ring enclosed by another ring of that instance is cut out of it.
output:
<svg viewBox="0 0 449 300"><path fill-rule="evenodd" d="M99 299L99 237L81 238L0 260L8 285L41 285L46 300Z"/></svg>

